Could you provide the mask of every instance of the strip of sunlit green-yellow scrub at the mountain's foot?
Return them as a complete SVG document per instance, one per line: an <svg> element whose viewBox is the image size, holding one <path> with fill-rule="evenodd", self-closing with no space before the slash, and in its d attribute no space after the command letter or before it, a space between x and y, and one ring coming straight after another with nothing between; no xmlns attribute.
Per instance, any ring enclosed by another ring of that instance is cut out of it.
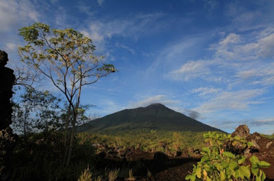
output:
<svg viewBox="0 0 274 181"><path fill-rule="evenodd" d="M138 135L138 136L136 136ZM175 136L176 135L176 136ZM184 135L184 136L183 136ZM175 136L175 137L174 137ZM105 143L109 147L137 147L144 152L166 152L161 143L165 143L171 154L175 155L177 151L188 152L192 156L192 149L201 149L203 143L203 132L174 132L164 130L136 130L124 132L105 132L105 134L77 134L79 140L90 141L90 143ZM175 145L179 145L175 149Z"/></svg>

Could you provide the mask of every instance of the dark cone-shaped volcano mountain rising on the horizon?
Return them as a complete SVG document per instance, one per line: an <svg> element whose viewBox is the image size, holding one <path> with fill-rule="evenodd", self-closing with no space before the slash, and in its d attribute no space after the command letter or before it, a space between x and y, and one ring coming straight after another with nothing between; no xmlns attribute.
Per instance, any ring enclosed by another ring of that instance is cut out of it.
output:
<svg viewBox="0 0 274 181"><path fill-rule="evenodd" d="M77 128L78 132L117 132L129 130L220 131L162 104L126 109L95 119Z"/></svg>

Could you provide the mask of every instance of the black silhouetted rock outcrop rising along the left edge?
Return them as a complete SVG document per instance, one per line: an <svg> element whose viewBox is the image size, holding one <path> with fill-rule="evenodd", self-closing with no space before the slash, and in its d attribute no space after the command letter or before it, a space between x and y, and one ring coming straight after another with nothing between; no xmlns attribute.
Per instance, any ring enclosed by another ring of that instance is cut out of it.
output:
<svg viewBox="0 0 274 181"><path fill-rule="evenodd" d="M14 148L14 134L10 128L12 123L12 86L14 74L12 69L5 67L8 54L0 50L0 180L7 180L10 173L8 163Z"/></svg>

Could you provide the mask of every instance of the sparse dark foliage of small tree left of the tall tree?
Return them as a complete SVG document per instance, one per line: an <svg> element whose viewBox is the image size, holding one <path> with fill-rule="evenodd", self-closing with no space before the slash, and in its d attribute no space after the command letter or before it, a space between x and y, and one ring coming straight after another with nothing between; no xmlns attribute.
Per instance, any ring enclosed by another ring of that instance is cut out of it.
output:
<svg viewBox="0 0 274 181"><path fill-rule="evenodd" d="M61 128L60 101L47 90L25 88L18 102L14 102L12 130L17 134L27 134Z"/></svg>

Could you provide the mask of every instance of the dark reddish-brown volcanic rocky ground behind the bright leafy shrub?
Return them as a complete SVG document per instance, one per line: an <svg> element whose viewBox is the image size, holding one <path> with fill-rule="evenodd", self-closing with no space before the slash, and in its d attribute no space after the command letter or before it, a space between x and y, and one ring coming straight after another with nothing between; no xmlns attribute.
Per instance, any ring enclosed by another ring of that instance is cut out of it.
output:
<svg viewBox="0 0 274 181"><path fill-rule="evenodd" d="M253 143L253 146L250 148L239 146L234 151L245 154L247 158L256 155L260 160L269 162L271 167L263 170L266 173L266 180L274 180L274 141L258 133L250 134L246 125L240 125L232 134L232 136L236 135L245 137L247 141ZM119 153L101 153L99 157L98 169L106 167L110 169L120 168L121 171L126 172L128 168L131 168L134 170L136 180L157 181L185 180L186 175L192 172L193 165L196 165L199 161L199 157L169 157L160 152L147 153L133 147ZM151 171L151 178L147 178L147 170ZM121 176L120 180L125 180L125 177Z"/></svg>

